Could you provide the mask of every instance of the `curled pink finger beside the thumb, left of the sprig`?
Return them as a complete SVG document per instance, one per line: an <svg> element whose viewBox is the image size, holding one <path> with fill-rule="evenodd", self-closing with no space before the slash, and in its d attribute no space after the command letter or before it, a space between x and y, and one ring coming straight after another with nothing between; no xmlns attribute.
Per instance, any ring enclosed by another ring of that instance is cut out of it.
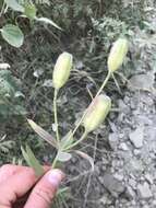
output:
<svg viewBox="0 0 156 208"><path fill-rule="evenodd" d="M38 177L31 167L24 167L1 184L0 206L11 206L15 200L25 195L37 182Z"/></svg>

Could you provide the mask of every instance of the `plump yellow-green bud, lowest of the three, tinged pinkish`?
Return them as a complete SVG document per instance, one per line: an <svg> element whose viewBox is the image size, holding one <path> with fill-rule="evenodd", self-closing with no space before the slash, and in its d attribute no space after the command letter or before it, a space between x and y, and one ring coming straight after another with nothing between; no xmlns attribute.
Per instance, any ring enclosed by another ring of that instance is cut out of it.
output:
<svg viewBox="0 0 156 208"><path fill-rule="evenodd" d="M106 118L111 108L111 100L107 95L98 95L86 109L83 126L87 132L95 130Z"/></svg>

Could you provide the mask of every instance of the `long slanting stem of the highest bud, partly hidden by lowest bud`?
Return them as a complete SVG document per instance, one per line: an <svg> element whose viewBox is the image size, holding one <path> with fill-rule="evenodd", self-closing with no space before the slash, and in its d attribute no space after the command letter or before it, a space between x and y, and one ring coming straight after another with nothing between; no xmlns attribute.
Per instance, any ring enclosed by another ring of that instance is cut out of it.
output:
<svg viewBox="0 0 156 208"><path fill-rule="evenodd" d="M95 95L94 100L101 93L101 91L103 91L103 89L106 86L106 84L107 84L107 82L108 82L110 76L111 76L111 72L108 71L107 77L106 77L106 79L104 80L104 82L103 82L100 89L98 90L97 94ZM74 136L75 131L77 130L77 128L79 128L80 125L82 124L82 122L83 122L84 117L86 116L86 114L87 114L87 109L85 109L83 116L81 117L80 122L77 123L77 125L75 126L74 130L72 131L72 134L71 134L71 136L70 136L70 139Z"/></svg>

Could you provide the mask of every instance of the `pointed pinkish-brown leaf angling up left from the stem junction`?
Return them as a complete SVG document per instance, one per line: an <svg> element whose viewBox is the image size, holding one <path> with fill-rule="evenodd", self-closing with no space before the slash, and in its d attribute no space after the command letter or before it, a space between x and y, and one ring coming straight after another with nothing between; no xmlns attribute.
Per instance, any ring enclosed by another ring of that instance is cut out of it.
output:
<svg viewBox="0 0 156 208"><path fill-rule="evenodd" d="M31 125L31 127L34 129L34 131L37 132L37 135L39 135L45 141L47 141L48 143L50 143L55 148L58 148L56 140L52 138L52 136L49 132L44 130L40 126L38 126L32 119L27 119L27 122Z"/></svg>

